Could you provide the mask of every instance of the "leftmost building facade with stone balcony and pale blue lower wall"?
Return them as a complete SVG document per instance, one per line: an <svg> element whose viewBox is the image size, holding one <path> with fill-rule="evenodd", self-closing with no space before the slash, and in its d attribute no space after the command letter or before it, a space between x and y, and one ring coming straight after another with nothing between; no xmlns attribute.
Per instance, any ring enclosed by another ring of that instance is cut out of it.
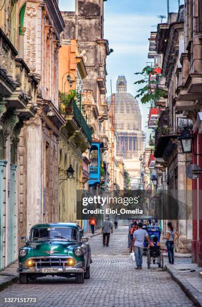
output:
<svg viewBox="0 0 202 307"><path fill-rule="evenodd" d="M36 114L38 81L21 58L21 3L0 11L0 269L17 258L20 235L20 130Z"/></svg>

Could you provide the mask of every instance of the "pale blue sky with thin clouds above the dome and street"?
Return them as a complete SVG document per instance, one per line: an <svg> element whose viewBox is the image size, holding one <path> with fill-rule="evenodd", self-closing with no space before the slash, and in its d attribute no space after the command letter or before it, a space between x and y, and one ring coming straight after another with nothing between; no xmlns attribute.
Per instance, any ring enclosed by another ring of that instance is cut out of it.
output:
<svg viewBox="0 0 202 307"><path fill-rule="evenodd" d="M169 11L177 12L178 0L169 1ZM180 1L183 4L183 0ZM74 0L59 0L62 11L74 11ZM104 38L109 41L109 48L114 50L107 57L107 95L115 91L117 76L125 75L127 91L136 95L138 86L133 82L137 79L135 72L141 71L148 53L148 37L150 31L160 20L158 15L167 16L167 0L107 0L104 2ZM142 129L147 138L150 134L147 125L148 106L139 102L142 114Z"/></svg>

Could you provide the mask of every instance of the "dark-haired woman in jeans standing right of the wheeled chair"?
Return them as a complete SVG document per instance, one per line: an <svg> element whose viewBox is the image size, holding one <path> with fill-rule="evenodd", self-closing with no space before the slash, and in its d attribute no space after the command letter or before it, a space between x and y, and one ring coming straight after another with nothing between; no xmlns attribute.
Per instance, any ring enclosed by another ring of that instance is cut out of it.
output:
<svg viewBox="0 0 202 307"><path fill-rule="evenodd" d="M179 238L178 232L175 231L172 227L172 223L167 223L168 230L166 230L166 236L163 236L162 239L167 240L165 245L167 247L167 256L169 264L174 264L174 241Z"/></svg>

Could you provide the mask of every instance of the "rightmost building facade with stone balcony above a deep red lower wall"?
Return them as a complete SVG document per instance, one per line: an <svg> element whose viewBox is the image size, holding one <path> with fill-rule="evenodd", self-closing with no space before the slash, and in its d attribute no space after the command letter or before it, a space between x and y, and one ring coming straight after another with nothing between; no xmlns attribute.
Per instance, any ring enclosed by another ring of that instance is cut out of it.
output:
<svg viewBox="0 0 202 307"><path fill-rule="evenodd" d="M202 168L201 89L202 89L202 3L199 0L184 2L184 52L181 54L181 72L176 89L176 108L185 118L192 120L192 163ZM202 264L202 206L201 175L192 180L193 221L192 261Z"/></svg>

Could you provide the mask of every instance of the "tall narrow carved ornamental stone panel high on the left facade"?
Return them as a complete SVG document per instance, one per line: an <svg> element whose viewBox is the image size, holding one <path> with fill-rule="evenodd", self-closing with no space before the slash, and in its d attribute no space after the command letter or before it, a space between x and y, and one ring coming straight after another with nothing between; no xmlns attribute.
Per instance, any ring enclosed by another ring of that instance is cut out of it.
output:
<svg viewBox="0 0 202 307"><path fill-rule="evenodd" d="M36 25L28 20L26 29L26 63L30 71L36 70Z"/></svg>

